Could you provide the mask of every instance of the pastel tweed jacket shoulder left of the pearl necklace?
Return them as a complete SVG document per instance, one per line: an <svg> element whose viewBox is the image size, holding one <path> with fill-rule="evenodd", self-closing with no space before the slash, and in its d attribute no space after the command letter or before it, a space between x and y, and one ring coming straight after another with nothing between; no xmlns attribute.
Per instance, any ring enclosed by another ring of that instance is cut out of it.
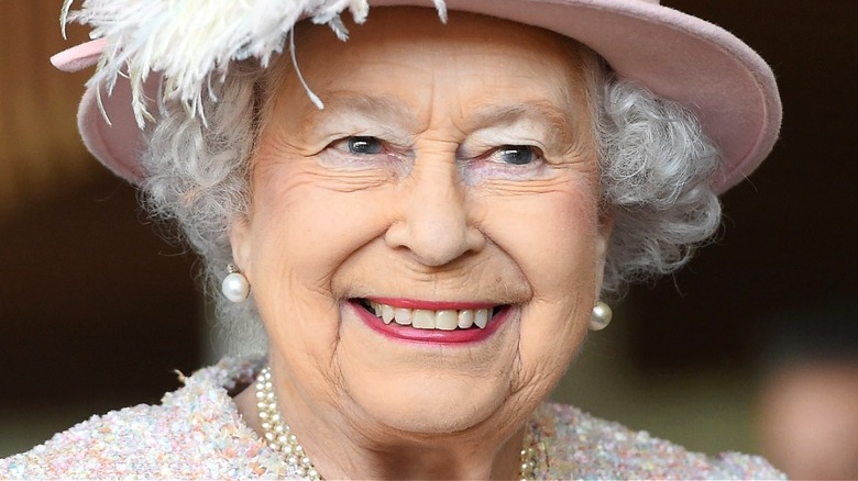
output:
<svg viewBox="0 0 858 481"><path fill-rule="evenodd" d="M258 478L273 456L246 426L224 385L234 366L202 369L162 404L92 416L30 451L0 459L0 479Z"/></svg>

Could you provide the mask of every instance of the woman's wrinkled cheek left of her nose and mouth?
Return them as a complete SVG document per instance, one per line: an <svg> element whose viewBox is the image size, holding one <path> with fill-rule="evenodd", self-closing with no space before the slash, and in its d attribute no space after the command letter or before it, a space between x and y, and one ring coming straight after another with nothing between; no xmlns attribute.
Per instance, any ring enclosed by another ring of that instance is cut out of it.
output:
<svg viewBox="0 0 858 481"><path fill-rule="evenodd" d="M349 257L384 228L374 191L342 191L295 168L258 171L251 223L249 277L273 356L289 359L292 376L333 379L340 301L349 282L333 278ZM307 353L312 353L307 356ZM318 389L329 389L332 383ZM314 388L316 389L316 388Z"/></svg>

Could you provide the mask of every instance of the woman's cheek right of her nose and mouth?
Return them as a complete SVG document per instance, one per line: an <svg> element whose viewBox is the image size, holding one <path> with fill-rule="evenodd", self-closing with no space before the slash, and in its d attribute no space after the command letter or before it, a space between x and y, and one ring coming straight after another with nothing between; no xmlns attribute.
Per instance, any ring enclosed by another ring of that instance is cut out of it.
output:
<svg viewBox="0 0 858 481"><path fill-rule="evenodd" d="M564 190L496 202L490 212L493 240L532 290L519 327L519 382L550 390L581 345L595 302L595 203L588 190Z"/></svg>

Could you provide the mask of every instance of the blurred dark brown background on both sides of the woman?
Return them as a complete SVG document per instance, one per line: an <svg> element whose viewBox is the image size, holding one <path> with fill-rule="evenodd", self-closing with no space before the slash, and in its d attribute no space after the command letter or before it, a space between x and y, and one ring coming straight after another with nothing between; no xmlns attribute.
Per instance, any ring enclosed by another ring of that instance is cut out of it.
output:
<svg viewBox="0 0 858 481"><path fill-rule="evenodd" d="M59 0L0 0L0 457L92 414L157 403L216 360L194 256L75 128L90 71L47 58ZM795 478L858 478L858 2L663 4L772 66L782 139L724 197L680 273L636 287L556 399L695 450L763 454Z"/></svg>

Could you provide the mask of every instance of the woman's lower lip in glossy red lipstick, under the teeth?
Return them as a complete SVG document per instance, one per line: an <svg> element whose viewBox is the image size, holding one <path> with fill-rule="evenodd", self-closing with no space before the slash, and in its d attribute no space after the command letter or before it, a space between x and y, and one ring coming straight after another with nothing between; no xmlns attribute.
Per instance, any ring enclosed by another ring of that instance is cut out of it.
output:
<svg viewBox="0 0 858 481"><path fill-rule="evenodd" d="M392 322L391 324L385 324L384 321L381 318L370 314L365 309L363 309L362 305L354 301L349 301L349 306L358 314L358 317L361 318L361 321L364 322L370 328L375 331L378 334L382 334L387 337L392 337L394 339L399 340L408 340L413 343L425 343L425 344L471 344L471 343L480 343L481 340L485 340L488 337L492 336L498 328L501 328L501 325L503 325L507 318L509 318L509 313L513 311L512 307L507 306L503 309L501 312L495 314L494 317L492 317L488 322L488 325L485 326L485 328L481 329L479 327L472 327L468 329L454 329L454 331L442 331L442 329L418 329L411 326L403 326L399 324L396 324L396 322Z"/></svg>

